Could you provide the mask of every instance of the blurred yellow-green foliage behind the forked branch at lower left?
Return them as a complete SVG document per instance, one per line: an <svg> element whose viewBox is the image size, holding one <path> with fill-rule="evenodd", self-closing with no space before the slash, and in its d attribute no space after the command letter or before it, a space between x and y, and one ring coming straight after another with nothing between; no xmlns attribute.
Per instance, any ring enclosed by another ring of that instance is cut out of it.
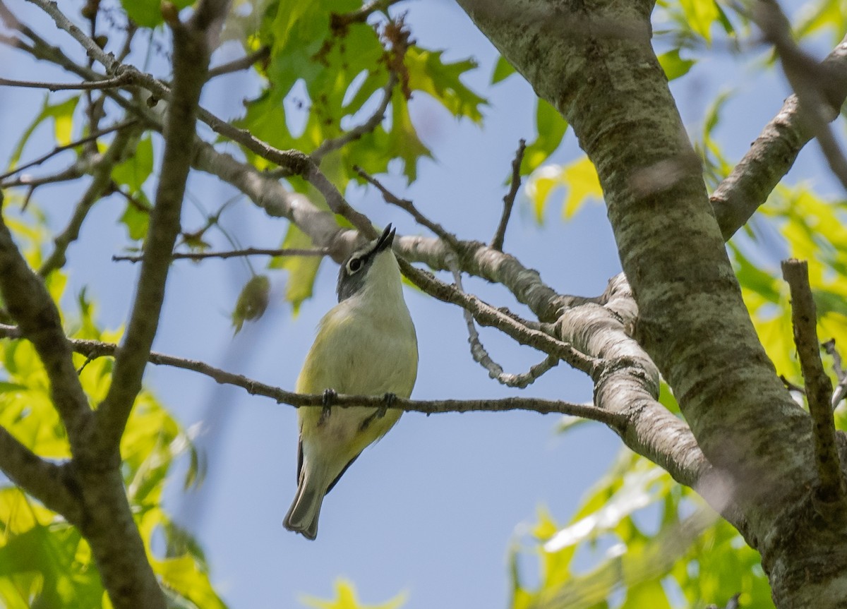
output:
<svg viewBox="0 0 847 609"><path fill-rule="evenodd" d="M30 218L39 217L30 208ZM48 243L42 224L6 219L19 237L30 264L40 263L40 246ZM66 276L53 272L47 289L57 303L64 296ZM64 328L71 338L117 342L122 332L102 330L95 306L85 291L64 307ZM73 313L70 313L73 311ZM106 396L112 360L88 360L75 354L80 382L91 405ZM64 427L50 400L41 360L30 342L0 343L0 425L36 454L49 459L70 457ZM162 507L165 481L178 458L187 459L185 487L203 475L202 459L191 434L182 429L149 390L136 399L121 439L123 473L136 524L155 573L169 594L171 606L185 609L225 607L213 590L199 545L179 529ZM163 551L159 551L163 548ZM0 482L0 605L17 607L111 607L104 593L91 549L77 529L40 503Z"/></svg>

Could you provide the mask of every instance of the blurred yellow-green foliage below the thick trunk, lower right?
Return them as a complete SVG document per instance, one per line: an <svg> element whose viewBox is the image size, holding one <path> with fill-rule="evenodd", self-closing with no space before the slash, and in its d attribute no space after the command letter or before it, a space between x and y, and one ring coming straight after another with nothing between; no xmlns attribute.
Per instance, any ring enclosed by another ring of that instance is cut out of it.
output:
<svg viewBox="0 0 847 609"><path fill-rule="evenodd" d="M513 609L740 606L770 609L760 557L693 490L628 449L567 526L540 510L512 543ZM523 574L539 573L530 582Z"/></svg>

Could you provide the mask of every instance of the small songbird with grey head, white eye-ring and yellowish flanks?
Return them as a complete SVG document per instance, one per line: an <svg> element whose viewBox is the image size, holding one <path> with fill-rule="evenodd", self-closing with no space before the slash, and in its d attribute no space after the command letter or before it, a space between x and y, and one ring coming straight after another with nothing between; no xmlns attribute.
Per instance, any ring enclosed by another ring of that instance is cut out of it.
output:
<svg viewBox="0 0 847 609"><path fill-rule="evenodd" d="M394 408L329 407L334 393L408 397L418 376L418 338L403 300L394 230L353 252L338 274L338 304L318 334L297 378L297 393L324 393L324 407L297 409L300 445L297 494L285 529L313 540L324 496L366 446L396 424Z"/></svg>

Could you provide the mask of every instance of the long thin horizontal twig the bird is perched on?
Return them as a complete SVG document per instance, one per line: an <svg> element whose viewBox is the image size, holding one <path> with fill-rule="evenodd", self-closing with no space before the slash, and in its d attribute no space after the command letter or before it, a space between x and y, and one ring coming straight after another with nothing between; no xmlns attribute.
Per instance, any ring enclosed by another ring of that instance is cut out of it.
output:
<svg viewBox="0 0 847 609"><path fill-rule="evenodd" d="M16 339L21 337L21 333L17 326L0 324L0 336ZM91 359L112 357L118 350L117 345L100 340L69 339L69 343L75 352ZM249 379L241 374L232 374L197 360L151 352L149 362L204 374L220 384L241 387L252 396L269 397L279 403L289 404L294 407L323 406L324 404L324 396L322 394L293 393L280 389L280 387L275 387L274 385L266 385L257 380ZM332 405L333 407L380 407L385 405L385 396L346 396L339 394L333 399ZM397 397L388 404L388 407L399 408L407 412L424 412L425 414L437 414L441 412L501 412L506 410L526 410L540 412L541 414L559 412L575 417L600 421L609 425L612 429L619 429L625 423L623 415L607 412L589 404L573 404L567 401L526 397L507 397L496 400L404 400Z"/></svg>

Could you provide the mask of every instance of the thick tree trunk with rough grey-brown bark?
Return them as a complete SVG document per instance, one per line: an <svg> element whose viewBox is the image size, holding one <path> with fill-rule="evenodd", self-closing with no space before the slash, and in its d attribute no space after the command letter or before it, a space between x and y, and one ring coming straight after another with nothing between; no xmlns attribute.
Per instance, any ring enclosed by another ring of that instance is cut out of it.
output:
<svg viewBox="0 0 847 609"><path fill-rule="evenodd" d="M595 164L639 306L637 338L732 490L726 501L745 516L775 602L844 606L844 510L815 500L811 420L778 379L741 299L699 159L650 46L652 3L459 3L569 121Z"/></svg>

